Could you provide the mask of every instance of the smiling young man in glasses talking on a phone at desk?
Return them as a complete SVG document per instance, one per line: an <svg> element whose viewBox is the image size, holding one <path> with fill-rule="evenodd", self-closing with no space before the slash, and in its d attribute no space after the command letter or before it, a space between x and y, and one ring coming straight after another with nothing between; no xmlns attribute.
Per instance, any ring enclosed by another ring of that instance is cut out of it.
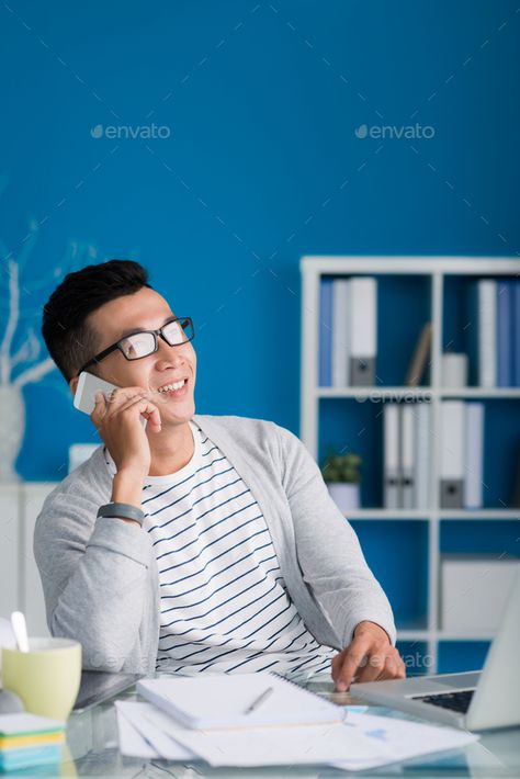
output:
<svg viewBox="0 0 520 779"><path fill-rule="evenodd" d="M125 260L69 273L44 308L71 392L83 370L118 387L91 415L104 445L36 522L52 633L81 642L86 668L403 677L389 603L318 466L273 422L194 414L177 314Z"/></svg>

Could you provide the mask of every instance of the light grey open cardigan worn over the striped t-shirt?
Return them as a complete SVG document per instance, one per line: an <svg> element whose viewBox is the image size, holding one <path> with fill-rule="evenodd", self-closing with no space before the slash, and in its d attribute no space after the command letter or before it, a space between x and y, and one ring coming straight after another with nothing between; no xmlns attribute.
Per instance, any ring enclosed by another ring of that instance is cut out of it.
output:
<svg viewBox="0 0 520 779"><path fill-rule="evenodd" d="M315 639L342 650L362 620L395 643L392 609L319 468L292 432L245 417L195 415L264 516L290 597ZM78 640L83 667L155 671L159 583L149 533L101 517L112 477L100 445L47 496L34 554L53 635Z"/></svg>

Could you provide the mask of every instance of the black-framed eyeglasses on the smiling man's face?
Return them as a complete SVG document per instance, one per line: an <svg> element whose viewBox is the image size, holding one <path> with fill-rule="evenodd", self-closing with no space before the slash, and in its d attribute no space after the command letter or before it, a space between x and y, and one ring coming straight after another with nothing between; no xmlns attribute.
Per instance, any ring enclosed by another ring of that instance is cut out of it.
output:
<svg viewBox="0 0 520 779"><path fill-rule="evenodd" d="M131 336L125 336L125 338L121 338L111 347L103 349L103 351L86 362L78 371L78 376L81 371L101 362L101 360L116 349L121 351L125 360L140 360L144 357L154 354L159 348L158 336L170 347L188 343L188 341L191 341L195 336L193 321L189 316L173 317L157 330L140 330L139 332L133 332Z"/></svg>

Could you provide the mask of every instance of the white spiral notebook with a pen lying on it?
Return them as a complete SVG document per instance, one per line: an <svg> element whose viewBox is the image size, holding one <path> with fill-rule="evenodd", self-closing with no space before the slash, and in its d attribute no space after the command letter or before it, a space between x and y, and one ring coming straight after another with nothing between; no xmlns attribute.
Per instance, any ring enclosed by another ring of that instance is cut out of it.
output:
<svg viewBox="0 0 520 779"><path fill-rule="evenodd" d="M258 707L247 712L262 693ZM201 674L142 679L137 692L186 727L253 727L341 722L343 710L271 674Z"/></svg>

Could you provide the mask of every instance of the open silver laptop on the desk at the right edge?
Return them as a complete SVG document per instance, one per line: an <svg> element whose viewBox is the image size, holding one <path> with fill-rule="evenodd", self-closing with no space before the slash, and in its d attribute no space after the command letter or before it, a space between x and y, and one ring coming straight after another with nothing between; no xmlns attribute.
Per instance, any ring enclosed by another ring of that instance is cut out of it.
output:
<svg viewBox="0 0 520 779"><path fill-rule="evenodd" d="M358 682L350 695L468 731L520 725L520 565L482 671Z"/></svg>

